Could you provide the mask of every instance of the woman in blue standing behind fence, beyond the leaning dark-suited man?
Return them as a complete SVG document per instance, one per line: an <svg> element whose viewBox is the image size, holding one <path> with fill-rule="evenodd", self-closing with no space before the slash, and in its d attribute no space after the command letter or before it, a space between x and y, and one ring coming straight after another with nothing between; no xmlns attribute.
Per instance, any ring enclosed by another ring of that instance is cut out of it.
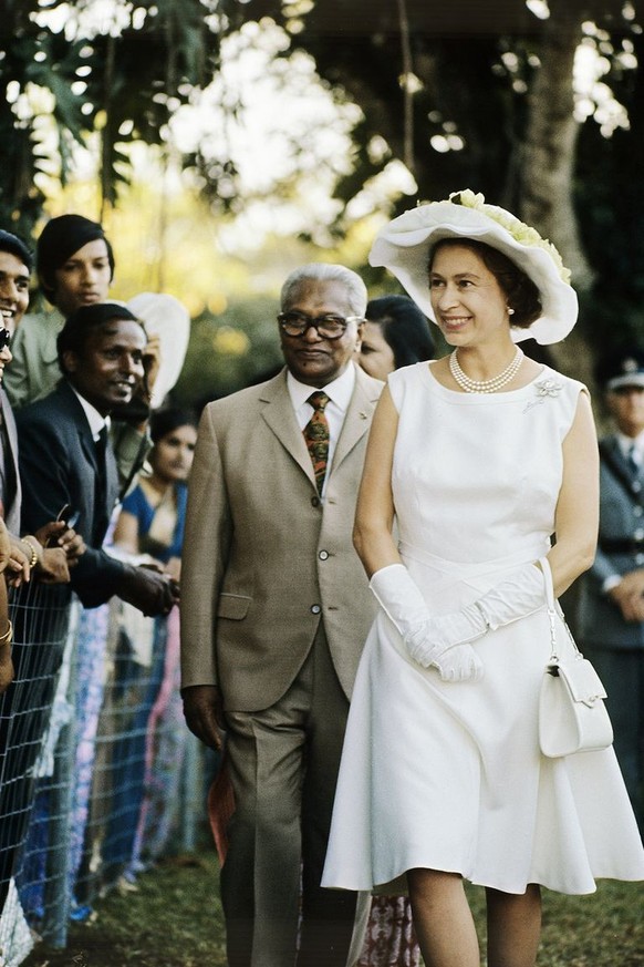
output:
<svg viewBox="0 0 644 967"><path fill-rule="evenodd" d="M193 413L169 407L150 419L152 473L142 474L123 501L114 528L114 545L128 554L144 554L173 577L180 577L186 518L187 480L197 439ZM169 852L185 805L181 773L188 748L196 739L186 729L179 695L179 616L177 609L154 623L148 666L136 661L116 668L118 688L127 696L139 689L142 700L133 714L145 729L122 735L113 763L118 768L122 796L113 812L106 840L127 860L132 879L145 866ZM147 688L143 688L147 680ZM124 731L125 716L121 718ZM112 833L112 835L110 835Z"/></svg>

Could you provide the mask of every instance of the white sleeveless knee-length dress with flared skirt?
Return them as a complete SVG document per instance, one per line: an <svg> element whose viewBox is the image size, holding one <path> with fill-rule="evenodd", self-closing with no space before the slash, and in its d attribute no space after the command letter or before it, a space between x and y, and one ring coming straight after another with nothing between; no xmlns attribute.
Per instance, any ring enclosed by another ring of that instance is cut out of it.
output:
<svg viewBox="0 0 644 967"><path fill-rule="evenodd" d="M393 490L401 554L428 607L474 601L543 556L554 531L562 441L582 384L544 368L488 395L398 370ZM550 656L546 604L475 642L485 677L440 681L384 611L362 656L323 885L372 889L405 871L458 872L507 893L644 879L644 851L612 749L547 759L537 709ZM399 886L399 884L398 884Z"/></svg>

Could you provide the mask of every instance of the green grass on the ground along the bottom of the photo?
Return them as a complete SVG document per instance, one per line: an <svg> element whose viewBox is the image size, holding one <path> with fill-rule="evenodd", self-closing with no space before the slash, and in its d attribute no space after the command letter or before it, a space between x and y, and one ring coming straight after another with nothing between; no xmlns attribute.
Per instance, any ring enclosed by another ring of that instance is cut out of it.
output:
<svg viewBox="0 0 644 967"><path fill-rule="evenodd" d="M482 925L482 892L470 898ZM644 967L643 907L642 884L605 882L586 897L546 893L539 967ZM39 944L23 967L226 967L216 858L162 864L136 893L100 901L92 923L72 926L66 950Z"/></svg>

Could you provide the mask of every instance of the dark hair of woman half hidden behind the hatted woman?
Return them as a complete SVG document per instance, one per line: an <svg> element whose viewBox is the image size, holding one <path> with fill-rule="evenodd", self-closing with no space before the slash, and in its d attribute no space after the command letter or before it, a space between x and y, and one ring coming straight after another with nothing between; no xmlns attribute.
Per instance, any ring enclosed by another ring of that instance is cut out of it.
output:
<svg viewBox="0 0 644 967"><path fill-rule="evenodd" d="M408 296L382 296L366 307L365 319L380 326L394 353L394 366L433 359L434 337L427 319Z"/></svg>

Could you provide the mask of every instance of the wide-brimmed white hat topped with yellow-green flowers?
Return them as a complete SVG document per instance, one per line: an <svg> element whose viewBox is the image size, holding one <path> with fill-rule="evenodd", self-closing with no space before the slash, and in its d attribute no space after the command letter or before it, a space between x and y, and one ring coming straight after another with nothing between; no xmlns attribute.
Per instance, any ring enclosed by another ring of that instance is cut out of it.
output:
<svg viewBox="0 0 644 967"><path fill-rule="evenodd" d="M456 192L448 202L418 205L378 232L368 260L385 266L426 316L436 322L429 298L428 257L443 238L474 238L497 248L532 279L542 313L527 329L511 327L515 342L559 342L577 321L577 294L554 246L510 212L487 205L480 194Z"/></svg>

